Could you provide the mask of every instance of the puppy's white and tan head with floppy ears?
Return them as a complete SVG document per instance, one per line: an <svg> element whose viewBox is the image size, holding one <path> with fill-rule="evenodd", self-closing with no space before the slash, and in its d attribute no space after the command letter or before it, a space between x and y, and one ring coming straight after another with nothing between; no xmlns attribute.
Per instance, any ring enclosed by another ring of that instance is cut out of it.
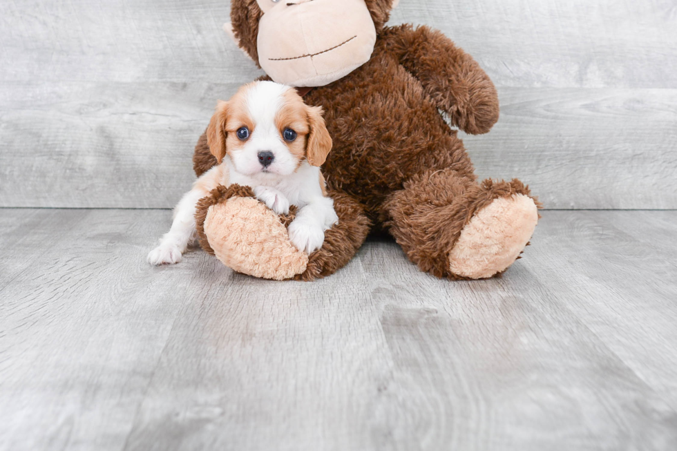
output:
<svg viewBox="0 0 677 451"><path fill-rule="evenodd" d="M322 109L272 81L247 84L219 102L207 144L219 163L228 155L235 170L249 176L289 175L304 160L321 166L332 150Z"/></svg>

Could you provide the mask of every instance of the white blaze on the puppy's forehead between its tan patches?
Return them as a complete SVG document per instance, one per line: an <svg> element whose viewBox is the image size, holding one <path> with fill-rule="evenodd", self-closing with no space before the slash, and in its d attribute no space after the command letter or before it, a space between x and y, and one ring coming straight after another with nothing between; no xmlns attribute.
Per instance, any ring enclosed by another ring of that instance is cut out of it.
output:
<svg viewBox="0 0 677 451"><path fill-rule="evenodd" d="M255 135L260 137L278 133L275 117L283 106L283 94L289 89L289 86L274 81L260 81L247 91L247 109L256 123Z"/></svg>

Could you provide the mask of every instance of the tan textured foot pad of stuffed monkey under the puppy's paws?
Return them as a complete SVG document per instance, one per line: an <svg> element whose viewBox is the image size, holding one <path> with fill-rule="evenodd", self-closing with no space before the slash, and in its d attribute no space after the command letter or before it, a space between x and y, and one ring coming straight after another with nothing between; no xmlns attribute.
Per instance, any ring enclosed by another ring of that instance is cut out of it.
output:
<svg viewBox="0 0 677 451"><path fill-rule="evenodd" d="M308 264L278 215L254 198L235 197L209 207L204 233L216 258L250 276L285 280Z"/></svg>

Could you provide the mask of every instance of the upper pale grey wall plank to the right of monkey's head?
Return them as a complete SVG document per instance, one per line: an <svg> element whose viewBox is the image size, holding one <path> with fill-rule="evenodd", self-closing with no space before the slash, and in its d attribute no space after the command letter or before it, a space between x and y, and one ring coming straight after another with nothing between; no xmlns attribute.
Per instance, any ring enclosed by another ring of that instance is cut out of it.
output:
<svg viewBox="0 0 677 451"><path fill-rule="evenodd" d="M444 31L498 86L677 87L673 0L401 0L392 21Z"/></svg>

